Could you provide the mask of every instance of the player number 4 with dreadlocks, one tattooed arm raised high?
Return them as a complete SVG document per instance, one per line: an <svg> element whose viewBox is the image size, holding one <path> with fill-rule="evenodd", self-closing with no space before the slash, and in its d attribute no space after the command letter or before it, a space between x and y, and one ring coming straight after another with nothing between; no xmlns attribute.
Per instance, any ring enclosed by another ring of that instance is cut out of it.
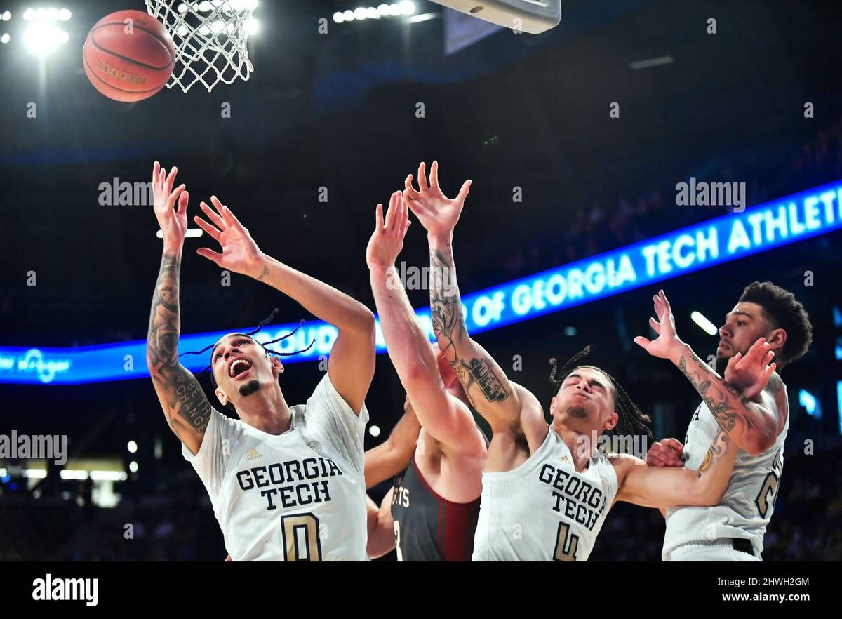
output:
<svg viewBox="0 0 842 619"><path fill-rule="evenodd" d="M424 163L418 189L412 181L410 174L403 195L427 229L434 333L473 408L493 432L473 560L587 560L616 500L647 507L716 504L734 457L723 448L722 435L711 442L710 466L699 472L647 467L625 454L605 456L598 444L603 433L637 433L647 417L606 371L576 365L581 355L553 372L557 392L547 424L538 398L511 382L466 330L452 239L470 181L455 199L442 194L437 163L429 184Z"/></svg>

